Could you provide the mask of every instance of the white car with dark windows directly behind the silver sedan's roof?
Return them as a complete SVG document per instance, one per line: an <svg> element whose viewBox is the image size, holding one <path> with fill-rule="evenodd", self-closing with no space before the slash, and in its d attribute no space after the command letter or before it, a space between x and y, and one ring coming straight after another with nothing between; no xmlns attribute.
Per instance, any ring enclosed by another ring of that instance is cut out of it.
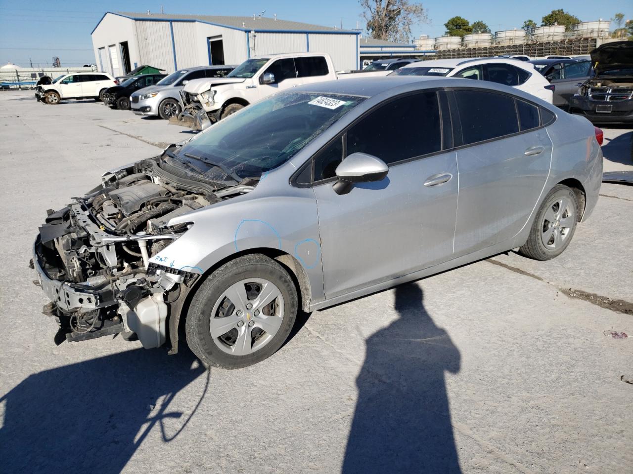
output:
<svg viewBox="0 0 633 474"><path fill-rule="evenodd" d="M486 80L516 87L552 103L554 86L534 69L516 59L432 59L407 64L389 76L444 76Z"/></svg>

